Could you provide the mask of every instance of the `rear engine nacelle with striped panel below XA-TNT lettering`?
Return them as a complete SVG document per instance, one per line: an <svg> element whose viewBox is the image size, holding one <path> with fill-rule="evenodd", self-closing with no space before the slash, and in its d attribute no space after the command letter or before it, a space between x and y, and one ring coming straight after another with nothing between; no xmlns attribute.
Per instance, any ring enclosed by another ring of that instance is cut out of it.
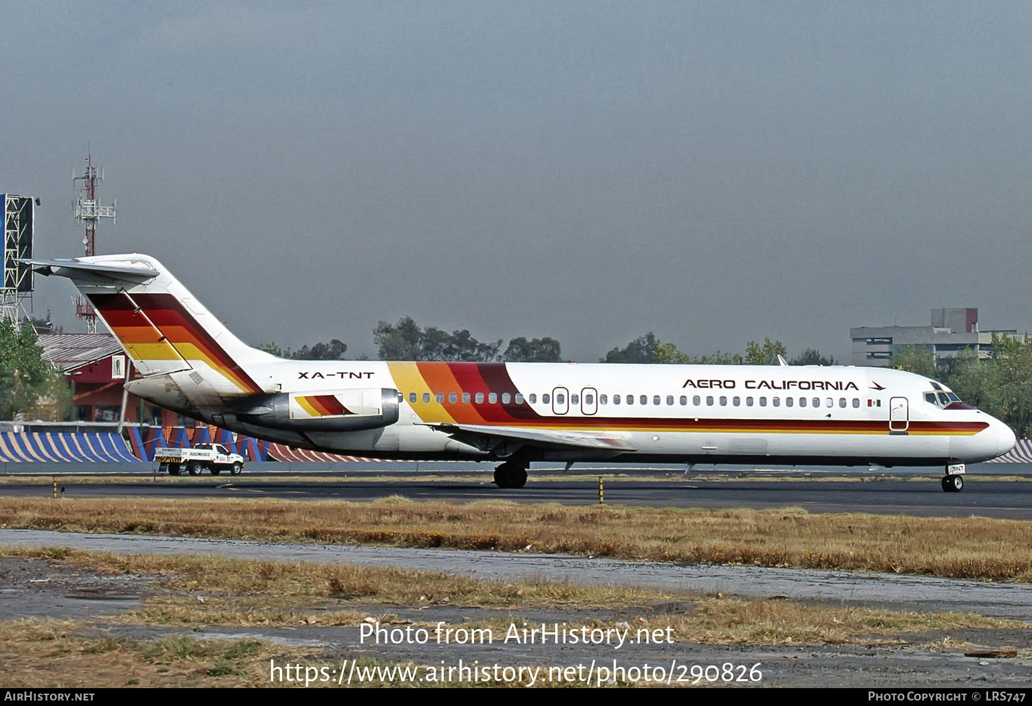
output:
<svg viewBox="0 0 1032 706"><path fill-rule="evenodd" d="M398 391L389 388L278 392L248 397L233 410L247 424L294 431L358 431L397 421Z"/></svg>

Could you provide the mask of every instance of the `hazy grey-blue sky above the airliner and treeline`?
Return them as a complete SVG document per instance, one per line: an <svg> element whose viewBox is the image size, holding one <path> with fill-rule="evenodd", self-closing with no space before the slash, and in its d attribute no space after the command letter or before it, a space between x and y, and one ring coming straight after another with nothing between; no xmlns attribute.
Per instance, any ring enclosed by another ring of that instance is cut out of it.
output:
<svg viewBox="0 0 1032 706"><path fill-rule="evenodd" d="M1032 329L1032 5L8 4L0 192L82 255L155 255L247 341L378 320L595 360L978 307ZM67 283L35 309L66 330Z"/></svg>

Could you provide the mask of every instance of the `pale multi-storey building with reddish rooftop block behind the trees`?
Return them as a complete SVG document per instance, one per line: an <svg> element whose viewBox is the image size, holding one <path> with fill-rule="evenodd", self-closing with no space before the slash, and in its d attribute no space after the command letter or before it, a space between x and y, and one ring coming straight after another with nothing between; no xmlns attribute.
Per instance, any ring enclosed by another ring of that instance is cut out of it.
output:
<svg viewBox="0 0 1032 706"><path fill-rule="evenodd" d="M978 310L933 309L929 326L860 326L849 329L852 339L852 364L889 367L893 353L901 348L924 346L935 353L936 360L957 357L973 350L979 358L993 352L993 334L1024 339L1015 329L978 328Z"/></svg>

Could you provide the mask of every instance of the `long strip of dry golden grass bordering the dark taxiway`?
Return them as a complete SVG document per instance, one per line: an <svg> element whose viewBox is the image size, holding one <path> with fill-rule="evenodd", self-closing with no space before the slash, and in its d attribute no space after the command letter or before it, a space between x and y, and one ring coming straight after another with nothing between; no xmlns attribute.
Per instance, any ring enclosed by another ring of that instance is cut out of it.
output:
<svg viewBox="0 0 1032 706"><path fill-rule="evenodd" d="M0 499L0 527L455 547L1032 581L1032 521L502 501Z"/></svg>

